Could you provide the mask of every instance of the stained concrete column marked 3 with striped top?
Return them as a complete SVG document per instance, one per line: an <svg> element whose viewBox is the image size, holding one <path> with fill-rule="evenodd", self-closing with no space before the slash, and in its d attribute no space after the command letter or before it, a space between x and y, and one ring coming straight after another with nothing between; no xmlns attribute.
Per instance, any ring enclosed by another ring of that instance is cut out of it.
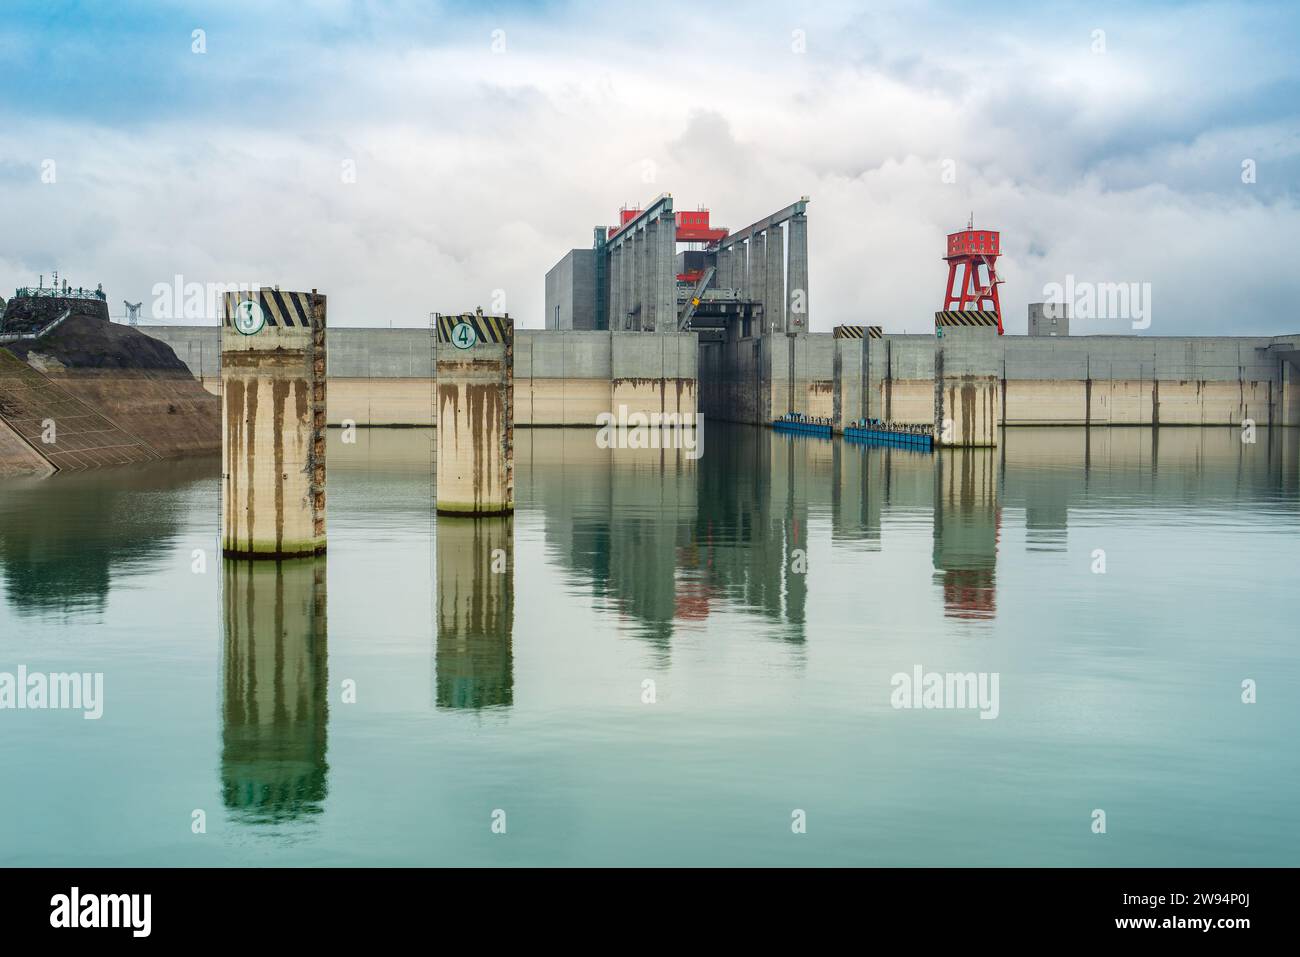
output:
<svg viewBox="0 0 1300 957"><path fill-rule="evenodd" d="M228 293L221 329L221 549L325 551L325 296Z"/></svg>

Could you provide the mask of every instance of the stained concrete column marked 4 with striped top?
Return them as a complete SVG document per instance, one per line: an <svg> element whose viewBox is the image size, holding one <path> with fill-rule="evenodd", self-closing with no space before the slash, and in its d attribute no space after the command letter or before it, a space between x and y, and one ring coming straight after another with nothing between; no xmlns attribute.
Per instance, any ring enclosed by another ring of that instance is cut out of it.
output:
<svg viewBox="0 0 1300 957"><path fill-rule="evenodd" d="M515 324L438 320L438 515L515 511Z"/></svg>

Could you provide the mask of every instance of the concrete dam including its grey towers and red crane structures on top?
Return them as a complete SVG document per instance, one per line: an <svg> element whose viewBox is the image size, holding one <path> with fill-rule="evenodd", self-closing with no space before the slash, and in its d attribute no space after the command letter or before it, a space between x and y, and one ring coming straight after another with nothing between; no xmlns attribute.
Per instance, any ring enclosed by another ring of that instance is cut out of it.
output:
<svg viewBox="0 0 1300 957"><path fill-rule="evenodd" d="M982 443L1019 425L1300 425L1300 333L1071 335L1067 304L1031 303L1028 334L1005 334L1001 238L974 222L946 239L935 333L854 324L814 332L810 207L801 196L728 229L708 209L676 209L662 194L595 226L590 247L569 250L546 273L545 328L515 321L514 425L594 426L620 410L753 425L794 415L837 433L864 419L933 425L941 442L936 360L949 372L978 371L988 407ZM972 321L988 334L963 328ZM220 391L216 328L142 332ZM332 328L329 424L437 425L438 348L432 328Z"/></svg>

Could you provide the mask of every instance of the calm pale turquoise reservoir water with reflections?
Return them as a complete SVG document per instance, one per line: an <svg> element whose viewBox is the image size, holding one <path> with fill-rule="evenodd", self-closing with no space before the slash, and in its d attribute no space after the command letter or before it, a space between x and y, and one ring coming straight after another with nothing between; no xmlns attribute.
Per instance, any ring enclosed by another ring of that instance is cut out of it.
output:
<svg viewBox="0 0 1300 957"><path fill-rule="evenodd" d="M1154 439L519 430L511 541L332 432L278 571L213 558L214 462L0 482L0 671L104 674L0 711L0 862L1295 865L1300 437Z"/></svg>

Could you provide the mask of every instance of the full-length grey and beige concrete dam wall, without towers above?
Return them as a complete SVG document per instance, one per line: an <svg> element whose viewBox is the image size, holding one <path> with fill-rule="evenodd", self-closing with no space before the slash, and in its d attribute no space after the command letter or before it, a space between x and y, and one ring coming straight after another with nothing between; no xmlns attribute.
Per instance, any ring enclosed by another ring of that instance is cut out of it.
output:
<svg viewBox="0 0 1300 957"><path fill-rule="evenodd" d="M143 329L220 391L214 328ZM436 423L425 329L330 330L332 425ZM1300 425L1300 335L1005 335L1002 425ZM798 333L697 343L693 333L516 330L515 424L599 412L694 412L767 424L784 412L930 424L935 337Z"/></svg>

